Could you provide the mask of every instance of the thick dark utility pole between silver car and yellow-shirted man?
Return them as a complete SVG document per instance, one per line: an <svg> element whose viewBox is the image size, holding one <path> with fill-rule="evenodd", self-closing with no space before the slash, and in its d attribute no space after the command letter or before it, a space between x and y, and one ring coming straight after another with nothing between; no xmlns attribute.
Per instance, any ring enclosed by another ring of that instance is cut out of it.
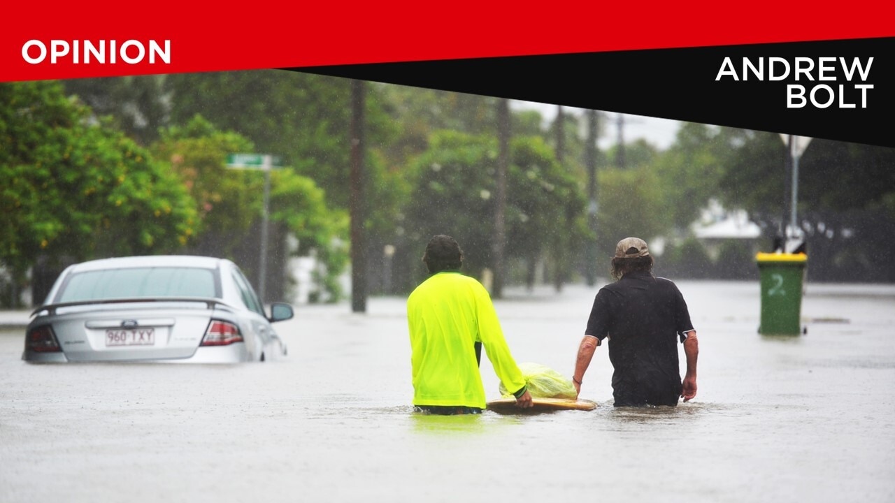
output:
<svg viewBox="0 0 895 503"><path fill-rule="evenodd" d="M367 311L367 260L363 222L366 219L364 197L364 107L363 81L351 81L351 310Z"/></svg>

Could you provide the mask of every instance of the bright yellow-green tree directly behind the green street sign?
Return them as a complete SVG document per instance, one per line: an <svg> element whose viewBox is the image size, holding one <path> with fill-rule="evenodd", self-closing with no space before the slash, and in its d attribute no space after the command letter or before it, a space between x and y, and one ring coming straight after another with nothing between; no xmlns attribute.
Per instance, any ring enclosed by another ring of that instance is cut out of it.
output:
<svg viewBox="0 0 895 503"><path fill-rule="evenodd" d="M200 115L161 132L153 151L170 162L192 193L200 216L198 250L235 260L251 227L263 217L264 174L226 167L228 154L253 150L242 135L219 131ZM320 281L329 297L338 299L337 277L345 270L347 253L337 236L345 235L345 212L330 211L316 183L284 168L270 174L269 217L298 238L298 254L317 255L326 269Z"/></svg>

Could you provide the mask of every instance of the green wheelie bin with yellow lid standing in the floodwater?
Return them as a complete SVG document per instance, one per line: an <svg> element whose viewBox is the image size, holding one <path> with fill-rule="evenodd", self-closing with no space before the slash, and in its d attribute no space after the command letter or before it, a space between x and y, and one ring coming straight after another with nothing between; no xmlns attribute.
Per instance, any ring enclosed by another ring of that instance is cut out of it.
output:
<svg viewBox="0 0 895 503"><path fill-rule="evenodd" d="M758 333L764 336L797 336L801 326L802 291L805 285L805 253L758 253L762 286L762 319Z"/></svg>

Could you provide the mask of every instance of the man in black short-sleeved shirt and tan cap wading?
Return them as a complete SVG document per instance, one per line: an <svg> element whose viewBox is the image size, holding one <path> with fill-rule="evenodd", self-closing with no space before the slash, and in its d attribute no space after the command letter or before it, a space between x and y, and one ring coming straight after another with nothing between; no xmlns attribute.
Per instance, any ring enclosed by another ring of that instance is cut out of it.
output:
<svg viewBox="0 0 895 503"><path fill-rule="evenodd" d="M678 398L686 402L696 396L696 330L678 286L653 277L652 264L644 240L618 242L612 259L617 281L597 293L578 347L572 381L579 393L594 351L609 337L615 406L678 405ZM686 354L683 382L678 338Z"/></svg>

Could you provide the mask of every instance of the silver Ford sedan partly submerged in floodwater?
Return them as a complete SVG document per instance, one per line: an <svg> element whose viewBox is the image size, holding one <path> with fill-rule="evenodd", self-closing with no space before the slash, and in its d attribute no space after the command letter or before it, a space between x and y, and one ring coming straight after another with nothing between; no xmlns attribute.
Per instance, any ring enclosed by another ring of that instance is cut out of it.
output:
<svg viewBox="0 0 895 503"><path fill-rule="evenodd" d="M192 255L81 262L55 280L25 330L27 362L263 362L286 354L231 260Z"/></svg>

